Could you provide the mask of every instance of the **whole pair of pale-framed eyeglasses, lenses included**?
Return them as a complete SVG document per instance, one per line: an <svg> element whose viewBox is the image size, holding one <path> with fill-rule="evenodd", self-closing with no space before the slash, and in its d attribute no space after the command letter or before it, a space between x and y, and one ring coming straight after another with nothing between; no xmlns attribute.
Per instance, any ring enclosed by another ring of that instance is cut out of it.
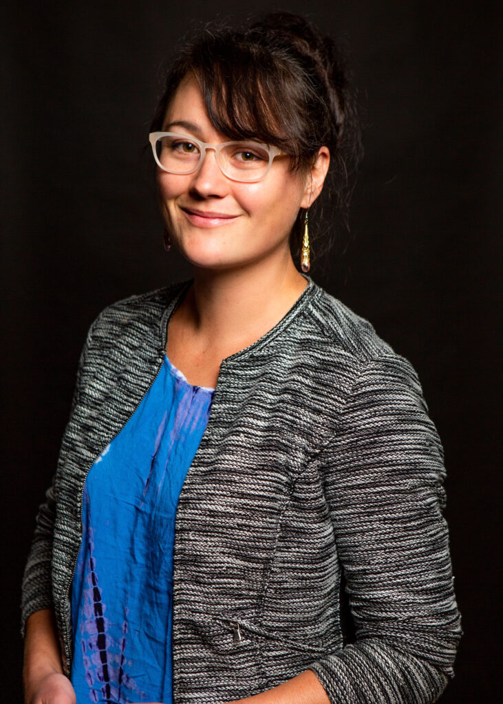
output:
<svg viewBox="0 0 503 704"><path fill-rule="evenodd" d="M151 132L149 140L157 165L163 171L192 174L203 163L206 149L213 149L223 175L245 183L263 179L273 159L282 153L275 146L259 142L207 144L178 132Z"/></svg>

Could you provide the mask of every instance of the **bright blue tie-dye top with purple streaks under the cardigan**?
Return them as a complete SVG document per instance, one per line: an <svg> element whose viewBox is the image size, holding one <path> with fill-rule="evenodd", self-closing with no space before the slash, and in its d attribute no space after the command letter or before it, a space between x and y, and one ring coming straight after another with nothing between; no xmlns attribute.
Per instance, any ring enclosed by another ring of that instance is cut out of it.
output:
<svg viewBox="0 0 503 704"><path fill-rule="evenodd" d="M175 513L212 401L165 356L89 470L71 590L77 704L172 702Z"/></svg>

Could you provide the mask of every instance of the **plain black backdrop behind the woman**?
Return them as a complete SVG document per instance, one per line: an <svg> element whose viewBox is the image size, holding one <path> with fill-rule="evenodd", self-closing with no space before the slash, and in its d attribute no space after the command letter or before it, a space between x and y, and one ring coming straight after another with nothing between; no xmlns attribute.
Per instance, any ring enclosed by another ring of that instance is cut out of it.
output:
<svg viewBox="0 0 503 704"><path fill-rule="evenodd" d="M2 694L20 701L20 579L87 327L190 276L166 255L142 156L159 65L218 12L306 13L349 47L366 155L352 231L313 278L416 367L445 445L465 636L442 701L495 700L497 6L430 0L40 3L4 8ZM330 213L325 210L330 219ZM491 680L493 679L493 682Z"/></svg>

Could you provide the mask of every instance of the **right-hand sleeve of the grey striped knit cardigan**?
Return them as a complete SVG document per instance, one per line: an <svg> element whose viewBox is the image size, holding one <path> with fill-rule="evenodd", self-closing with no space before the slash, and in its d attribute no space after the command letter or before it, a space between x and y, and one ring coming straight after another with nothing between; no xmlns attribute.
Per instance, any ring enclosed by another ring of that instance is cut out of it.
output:
<svg viewBox="0 0 503 704"><path fill-rule="evenodd" d="M368 362L321 453L356 642L310 665L333 704L429 704L461 637L443 450L410 363Z"/></svg>

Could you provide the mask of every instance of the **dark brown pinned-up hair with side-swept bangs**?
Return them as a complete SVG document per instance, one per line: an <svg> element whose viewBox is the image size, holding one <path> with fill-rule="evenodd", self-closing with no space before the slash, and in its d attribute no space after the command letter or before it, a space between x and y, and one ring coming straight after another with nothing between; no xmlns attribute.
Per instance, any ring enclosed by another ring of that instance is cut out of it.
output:
<svg viewBox="0 0 503 704"><path fill-rule="evenodd" d="M241 30L207 25L170 65L151 132L161 130L168 103L189 73L201 87L211 123L229 139L278 146L297 171L309 169L318 149L327 146L335 204L347 224L350 173L361 142L347 71L333 39L285 12ZM301 228L294 227L295 261L300 242Z"/></svg>

